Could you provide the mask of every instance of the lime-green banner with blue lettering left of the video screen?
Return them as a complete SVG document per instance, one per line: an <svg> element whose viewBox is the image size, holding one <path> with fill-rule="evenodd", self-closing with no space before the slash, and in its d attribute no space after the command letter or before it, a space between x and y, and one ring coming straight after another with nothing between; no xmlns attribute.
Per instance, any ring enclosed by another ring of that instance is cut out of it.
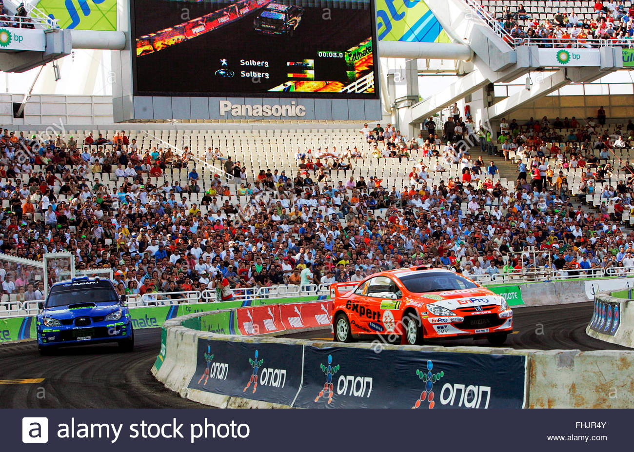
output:
<svg viewBox="0 0 634 452"><path fill-rule="evenodd" d="M117 30L117 0L40 0L37 9L62 29Z"/></svg>

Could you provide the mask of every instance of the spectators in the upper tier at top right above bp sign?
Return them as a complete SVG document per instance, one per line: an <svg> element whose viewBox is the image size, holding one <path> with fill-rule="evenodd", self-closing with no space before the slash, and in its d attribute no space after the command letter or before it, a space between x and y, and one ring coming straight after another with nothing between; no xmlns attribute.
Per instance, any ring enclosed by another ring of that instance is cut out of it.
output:
<svg viewBox="0 0 634 452"><path fill-rule="evenodd" d="M623 1L597 1L590 18L571 8L540 20L523 4L515 9L506 6L495 18L516 43L546 48L593 48L605 41L628 46L634 35L634 6Z"/></svg>

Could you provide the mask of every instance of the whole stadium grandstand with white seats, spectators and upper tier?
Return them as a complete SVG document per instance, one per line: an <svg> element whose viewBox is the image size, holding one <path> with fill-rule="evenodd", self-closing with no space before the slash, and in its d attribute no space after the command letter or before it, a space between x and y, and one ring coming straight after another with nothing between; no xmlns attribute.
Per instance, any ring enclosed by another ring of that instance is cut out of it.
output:
<svg viewBox="0 0 634 452"><path fill-rule="evenodd" d="M209 107L195 118L191 101L179 117L190 98L150 93L129 96L136 117L122 122L125 91L105 80L129 49L73 45L7 72L0 310L22 312L61 279L28 264L53 252L70 252L78 271L111 269L119 294L144 302L321 294L418 265L482 283L634 271L634 7L428 5L448 39L416 42L420 57L378 44L378 114L214 118ZM7 29L46 17L7 8ZM456 22L452 8L472 15ZM433 56L436 44L457 56ZM565 53L544 63L549 49Z"/></svg>

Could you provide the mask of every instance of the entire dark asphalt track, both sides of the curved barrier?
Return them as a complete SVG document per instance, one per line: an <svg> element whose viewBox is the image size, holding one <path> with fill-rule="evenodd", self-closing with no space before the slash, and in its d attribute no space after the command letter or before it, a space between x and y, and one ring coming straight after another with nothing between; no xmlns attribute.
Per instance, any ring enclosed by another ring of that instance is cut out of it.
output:
<svg viewBox="0 0 634 452"><path fill-rule="evenodd" d="M585 327L592 302L515 309L515 349L624 347L592 339ZM328 330L288 337L324 339ZM133 352L117 345L88 345L40 356L35 342L0 345L0 408L209 408L171 392L150 373L160 348L160 328L136 330ZM488 345L486 340L442 340L442 345ZM40 382L38 379L43 378Z"/></svg>

